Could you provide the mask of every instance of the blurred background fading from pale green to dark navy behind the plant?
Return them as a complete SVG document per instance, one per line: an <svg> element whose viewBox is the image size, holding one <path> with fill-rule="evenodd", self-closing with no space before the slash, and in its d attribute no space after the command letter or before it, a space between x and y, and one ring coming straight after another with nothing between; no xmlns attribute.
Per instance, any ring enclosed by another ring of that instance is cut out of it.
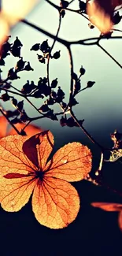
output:
<svg viewBox="0 0 122 256"><path fill-rule="evenodd" d="M59 2L57 1L57 4ZM79 9L78 1L74 1L70 8ZM40 1L39 5L28 15L27 19L54 35L57 32L57 10L44 0ZM62 19L59 37L68 40L97 37L100 34L98 29L94 28L91 30L88 27L88 23L88 20L80 15L67 11L64 19ZM115 26L115 28L122 29L121 25L122 22ZM113 36L121 34L120 32L114 32ZM13 28L10 42L13 42L16 36L24 44L21 55L25 61L30 61L31 67L34 69L34 72L25 71L21 72L21 74L19 73L20 80L13 81L13 86L21 89L27 80L34 80L35 84L37 84L40 76L46 76L46 65L39 63L36 52L30 51L30 49L32 45L43 43L43 40L48 39L48 37L35 31L33 28L29 28L25 24L17 24ZM52 43L53 40L49 38L49 45ZM101 44L122 65L121 39L106 39L102 40ZM65 91L65 102L68 102L70 86L68 51L60 43L55 44L53 53L57 50L61 50L61 58L50 61L50 81L56 77L58 78L58 85ZM79 119L85 119L84 128L91 133L94 139L98 140L105 147L113 146L110 140L110 133L114 132L116 128L119 132L122 132L121 69L98 46L72 46L72 56L74 71L78 75L81 65L86 69L86 73L81 80L82 87L86 87L89 80L95 81L94 87L76 96L79 105L73 107L74 113ZM8 70L15 66L17 61L18 58L11 56L6 58L6 66L3 68L2 73L3 78L6 78ZM41 99L34 99L33 102L37 107L43 105ZM9 104L7 108L9 109ZM25 103L25 109L30 117L39 115L27 103ZM61 109L56 106L55 111L61 111ZM79 128L62 128L59 122L48 119L36 121L35 124L44 129L50 129L54 133L56 141L55 150L62 147L65 143L72 141L86 144L91 148L94 155L93 168L94 170L98 168L100 158L98 147L95 147ZM114 187L121 187L121 182L118 181L120 180L120 175L121 164L115 162L114 164L106 163L104 165L103 176L109 184L112 184ZM76 221L63 230L55 232L41 226L31 212L31 203L20 210L19 213L6 213L2 210L0 224L2 241L3 243L7 241L9 247L9 253L3 255L13 256L13 250L17 248L16 255L18 256L20 255L20 250L22 250L21 244L23 246L25 244L27 254L23 251L22 255L29 256L41 255L42 252L43 255L47 255L46 250L49 250L49 256L64 256L66 254L69 255L69 248L74 252L74 255L81 255L83 252L83 255L88 253L89 255L113 255L115 253L117 256L120 256L121 234L117 226L117 213L106 213L102 210L96 210L90 206L90 203L94 201L122 202L121 198L101 187L95 187L85 180L74 185L79 192L80 198L82 198L81 204L83 207L81 207L82 209ZM76 240L79 240L77 247L74 242ZM67 241L67 249L64 252L65 241ZM73 241L72 244L71 241ZM70 243L69 247L68 243ZM32 250L35 251L35 254L31 252Z"/></svg>

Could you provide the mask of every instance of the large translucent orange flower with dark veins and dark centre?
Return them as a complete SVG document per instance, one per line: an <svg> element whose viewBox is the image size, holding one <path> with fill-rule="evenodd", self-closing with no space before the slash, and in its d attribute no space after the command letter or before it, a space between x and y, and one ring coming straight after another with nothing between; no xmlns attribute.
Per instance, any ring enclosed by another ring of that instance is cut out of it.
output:
<svg viewBox="0 0 122 256"><path fill-rule="evenodd" d="M71 184L91 171L91 150L68 143L47 162L54 147L50 131L0 139L0 202L9 212L20 210L32 195L40 224L65 228L79 212L79 195Z"/></svg>

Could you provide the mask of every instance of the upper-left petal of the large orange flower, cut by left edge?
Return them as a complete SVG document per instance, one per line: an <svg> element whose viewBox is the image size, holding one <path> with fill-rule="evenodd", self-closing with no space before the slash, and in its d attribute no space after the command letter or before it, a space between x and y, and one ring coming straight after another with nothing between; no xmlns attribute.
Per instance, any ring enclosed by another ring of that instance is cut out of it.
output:
<svg viewBox="0 0 122 256"><path fill-rule="evenodd" d="M23 173L34 171L35 165L24 155L23 143L28 136L12 135L0 139L0 177L7 173Z"/></svg>

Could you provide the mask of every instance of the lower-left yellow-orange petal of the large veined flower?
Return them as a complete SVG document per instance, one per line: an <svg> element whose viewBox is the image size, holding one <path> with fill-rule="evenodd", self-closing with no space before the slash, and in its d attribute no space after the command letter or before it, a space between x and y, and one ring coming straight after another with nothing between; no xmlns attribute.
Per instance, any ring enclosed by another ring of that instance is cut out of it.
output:
<svg viewBox="0 0 122 256"><path fill-rule="evenodd" d="M17 179L0 179L2 208L8 212L20 210L28 202L34 187L35 180L31 176L23 176Z"/></svg>

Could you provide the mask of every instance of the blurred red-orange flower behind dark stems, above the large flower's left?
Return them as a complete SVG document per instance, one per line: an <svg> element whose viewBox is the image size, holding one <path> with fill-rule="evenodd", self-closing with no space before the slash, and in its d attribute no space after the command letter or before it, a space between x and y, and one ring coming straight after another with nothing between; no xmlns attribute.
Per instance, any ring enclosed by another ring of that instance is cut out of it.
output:
<svg viewBox="0 0 122 256"><path fill-rule="evenodd" d="M25 124L19 123L19 124L14 124L14 126L20 132L24 128ZM0 117L0 138L6 137L8 135L17 134L14 128L11 128L9 132L7 132L7 128L8 128L8 121L6 120L6 117L3 117L3 116ZM36 133L43 132L43 129L38 128L35 125L28 124L28 126L24 129L24 132L26 132L28 136L32 136L32 135L35 135Z"/></svg>

